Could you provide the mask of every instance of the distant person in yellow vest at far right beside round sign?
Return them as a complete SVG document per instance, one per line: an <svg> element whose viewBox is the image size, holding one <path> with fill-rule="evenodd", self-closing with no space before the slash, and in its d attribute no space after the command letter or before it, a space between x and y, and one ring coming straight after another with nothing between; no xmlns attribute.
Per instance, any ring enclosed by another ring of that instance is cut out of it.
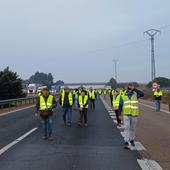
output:
<svg viewBox="0 0 170 170"><path fill-rule="evenodd" d="M155 106L156 106L156 111L157 112L160 112L160 110L161 110L162 96L163 96L163 92L160 89L160 87L155 89L155 91L154 91L154 98L155 98Z"/></svg>

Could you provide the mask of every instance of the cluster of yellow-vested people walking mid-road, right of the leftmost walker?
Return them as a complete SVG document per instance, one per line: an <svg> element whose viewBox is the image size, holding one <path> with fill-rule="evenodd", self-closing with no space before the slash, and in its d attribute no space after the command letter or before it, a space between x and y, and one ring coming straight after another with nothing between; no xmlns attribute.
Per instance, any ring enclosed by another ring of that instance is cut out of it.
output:
<svg viewBox="0 0 170 170"><path fill-rule="evenodd" d="M90 108L95 110L95 100L97 98L96 90L90 88L69 89L65 87L61 91L59 103L63 110L63 121L65 126L72 125L72 112L73 109L80 112L79 126L87 127L87 111Z"/></svg>

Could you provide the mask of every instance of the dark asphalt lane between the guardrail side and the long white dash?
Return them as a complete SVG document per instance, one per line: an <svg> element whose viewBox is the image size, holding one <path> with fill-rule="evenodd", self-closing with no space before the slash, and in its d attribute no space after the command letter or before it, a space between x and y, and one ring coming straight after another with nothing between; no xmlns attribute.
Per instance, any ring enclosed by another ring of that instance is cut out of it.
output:
<svg viewBox="0 0 170 170"><path fill-rule="evenodd" d="M29 108L0 117L0 148L37 125L35 109Z"/></svg>

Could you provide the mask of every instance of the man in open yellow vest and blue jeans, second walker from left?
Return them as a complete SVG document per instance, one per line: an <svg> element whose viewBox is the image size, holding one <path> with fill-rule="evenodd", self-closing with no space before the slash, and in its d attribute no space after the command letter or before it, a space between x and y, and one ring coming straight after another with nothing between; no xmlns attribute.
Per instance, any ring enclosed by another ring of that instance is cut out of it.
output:
<svg viewBox="0 0 170 170"><path fill-rule="evenodd" d="M72 107L74 104L73 93L68 87L65 87L59 99L63 110L63 121L65 126L72 124Z"/></svg>

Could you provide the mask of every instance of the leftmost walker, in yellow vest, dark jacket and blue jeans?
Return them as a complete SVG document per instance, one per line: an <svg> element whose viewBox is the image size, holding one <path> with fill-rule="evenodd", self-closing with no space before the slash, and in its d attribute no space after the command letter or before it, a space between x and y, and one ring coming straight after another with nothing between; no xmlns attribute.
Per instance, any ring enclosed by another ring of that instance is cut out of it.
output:
<svg viewBox="0 0 170 170"><path fill-rule="evenodd" d="M40 114L44 124L44 140L53 140L52 137L52 116L53 109L57 107L57 102L55 98L50 95L49 89L44 87L42 90L42 95L37 99L37 113ZM36 114L37 115L37 114Z"/></svg>

